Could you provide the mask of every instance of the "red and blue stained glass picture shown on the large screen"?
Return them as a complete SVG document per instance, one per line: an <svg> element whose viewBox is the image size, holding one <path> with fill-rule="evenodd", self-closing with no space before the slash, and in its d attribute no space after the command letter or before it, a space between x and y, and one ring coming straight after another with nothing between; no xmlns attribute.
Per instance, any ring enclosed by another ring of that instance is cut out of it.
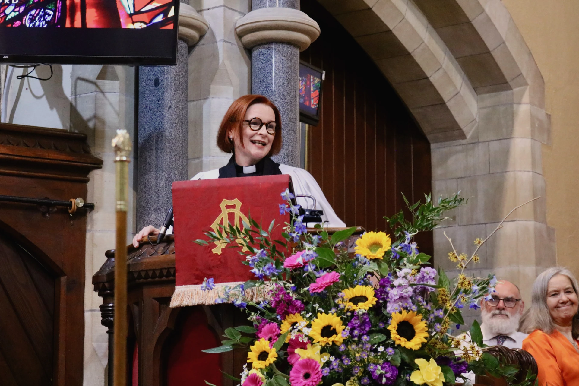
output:
<svg viewBox="0 0 579 386"><path fill-rule="evenodd" d="M0 27L169 28L173 0L0 0Z"/></svg>

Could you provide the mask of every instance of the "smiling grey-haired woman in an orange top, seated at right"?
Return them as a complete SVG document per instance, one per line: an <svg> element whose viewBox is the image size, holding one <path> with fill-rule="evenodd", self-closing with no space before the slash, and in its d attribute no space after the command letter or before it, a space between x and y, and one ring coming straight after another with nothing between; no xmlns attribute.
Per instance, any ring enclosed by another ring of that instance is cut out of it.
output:
<svg viewBox="0 0 579 386"><path fill-rule="evenodd" d="M533 284L532 303L519 330L530 335L523 350L537 361L543 386L579 384L579 316L577 279L567 269L551 267Z"/></svg>

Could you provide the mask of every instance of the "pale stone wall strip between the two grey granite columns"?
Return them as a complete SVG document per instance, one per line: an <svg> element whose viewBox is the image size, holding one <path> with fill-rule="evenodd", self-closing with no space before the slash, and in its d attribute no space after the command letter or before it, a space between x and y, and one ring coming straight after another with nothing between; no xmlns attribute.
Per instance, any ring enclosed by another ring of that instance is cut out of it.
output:
<svg viewBox="0 0 579 386"><path fill-rule="evenodd" d="M234 100L250 93L250 54L235 23L250 11L248 0L191 0L210 24L189 55L189 177L224 166L230 155L215 138Z"/></svg>

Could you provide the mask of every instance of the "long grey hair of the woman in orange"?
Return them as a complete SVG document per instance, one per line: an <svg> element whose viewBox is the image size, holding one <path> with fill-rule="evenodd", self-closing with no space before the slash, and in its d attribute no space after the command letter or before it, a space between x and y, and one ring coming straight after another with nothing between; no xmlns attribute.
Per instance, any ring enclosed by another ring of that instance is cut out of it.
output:
<svg viewBox="0 0 579 386"><path fill-rule="evenodd" d="M519 323L519 330L521 332L530 334L534 330L541 330L544 333L550 334L555 329L555 323L549 313L547 306L547 287L549 281L556 275L565 275L571 281L573 291L577 293L577 279L568 269L564 267L551 267L543 271L537 276L533 283L533 293L531 299L531 307L525 312ZM578 315L573 318L573 328L571 329L573 339L579 337L579 319Z"/></svg>

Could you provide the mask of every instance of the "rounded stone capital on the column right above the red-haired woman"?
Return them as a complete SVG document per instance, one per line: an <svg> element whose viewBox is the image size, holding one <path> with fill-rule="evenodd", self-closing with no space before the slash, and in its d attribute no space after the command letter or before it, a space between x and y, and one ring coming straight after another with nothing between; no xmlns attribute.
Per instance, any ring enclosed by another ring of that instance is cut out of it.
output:
<svg viewBox="0 0 579 386"><path fill-rule="evenodd" d="M235 31L247 48L258 44L291 43L305 50L320 36L320 26L307 14L291 8L261 8L237 20Z"/></svg>

